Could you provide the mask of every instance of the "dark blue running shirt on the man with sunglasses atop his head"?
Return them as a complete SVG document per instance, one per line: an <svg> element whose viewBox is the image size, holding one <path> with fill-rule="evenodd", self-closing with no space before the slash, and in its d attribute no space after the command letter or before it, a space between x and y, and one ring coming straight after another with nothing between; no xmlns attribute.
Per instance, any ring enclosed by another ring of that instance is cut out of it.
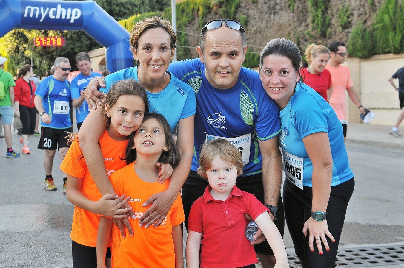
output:
<svg viewBox="0 0 404 268"><path fill-rule="evenodd" d="M194 88L196 114L194 157L191 170L199 166L200 147L209 139L225 138L238 148L245 164L242 176L261 173L258 141L280 133L279 109L262 87L259 74L242 67L238 81L229 89L213 87L199 59L173 62L168 68Z"/></svg>

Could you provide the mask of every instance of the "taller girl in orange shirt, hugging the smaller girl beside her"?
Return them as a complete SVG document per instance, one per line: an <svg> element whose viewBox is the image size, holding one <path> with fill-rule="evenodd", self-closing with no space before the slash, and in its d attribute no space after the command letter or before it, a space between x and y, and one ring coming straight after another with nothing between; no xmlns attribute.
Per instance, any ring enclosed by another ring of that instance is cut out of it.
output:
<svg viewBox="0 0 404 268"><path fill-rule="evenodd" d="M147 95L144 87L131 80L116 82L103 102L103 114L108 127L99 140L109 175L126 166L125 149L131 133L136 131L148 113ZM96 267L97 229L102 214L112 218L126 217L132 208L121 209L130 199L125 194L102 196L88 171L79 146L79 137L74 141L61 164L67 173L67 199L75 205L72 223L72 256L74 267ZM156 167L157 168L157 167ZM110 243L109 243L110 244ZM110 245L108 245L110 246ZM107 256L110 262L110 253Z"/></svg>

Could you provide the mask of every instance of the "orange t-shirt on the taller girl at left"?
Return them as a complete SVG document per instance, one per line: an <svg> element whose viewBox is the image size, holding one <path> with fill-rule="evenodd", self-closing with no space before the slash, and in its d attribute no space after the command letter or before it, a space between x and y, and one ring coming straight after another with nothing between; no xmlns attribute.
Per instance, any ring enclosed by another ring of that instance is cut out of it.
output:
<svg viewBox="0 0 404 268"><path fill-rule="evenodd" d="M99 144L108 175L112 175L115 170L126 166L126 162L120 158L124 156L125 148L128 144L127 140L116 141L109 137L107 131L105 131L99 140ZM80 150L78 137L76 136L60 165L60 169L68 175L82 178L82 193L88 199L97 201L102 195L88 171L84 158L79 159L80 156L82 156L82 151ZM100 216L75 206L72 233L70 233L72 240L81 245L96 247L99 219Z"/></svg>

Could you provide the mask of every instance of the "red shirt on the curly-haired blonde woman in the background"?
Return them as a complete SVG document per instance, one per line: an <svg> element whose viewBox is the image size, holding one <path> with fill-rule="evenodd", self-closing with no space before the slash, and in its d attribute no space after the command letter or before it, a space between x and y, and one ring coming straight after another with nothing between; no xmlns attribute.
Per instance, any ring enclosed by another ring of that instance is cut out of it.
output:
<svg viewBox="0 0 404 268"><path fill-rule="evenodd" d="M316 90L324 100L327 100L327 89L331 87L331 74L330 71L324 69L321 73L312 74L305 68L301 72L304 78L304 83ZM328 101L328 100L327 100Z"/></svg>

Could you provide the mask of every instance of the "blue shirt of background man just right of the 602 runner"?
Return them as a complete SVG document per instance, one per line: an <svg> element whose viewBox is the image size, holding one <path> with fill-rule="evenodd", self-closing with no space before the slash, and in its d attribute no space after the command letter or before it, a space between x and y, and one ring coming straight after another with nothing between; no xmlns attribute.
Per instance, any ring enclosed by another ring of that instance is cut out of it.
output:
<svg viewBox="0 0 404 268"><path fill-rule="evenodd" d="M97 76L102 76L100 73L91 72L91 75L84 76L82 73L76 75L70 83L70 91L72 92L72 99L77 99L80 97L80 91L88 85L91 79ZM77 123L82 123L86 119L87 115L90 113L88 110L87 101L84 100L80 107L76 108L76 120Z"/></svg>

